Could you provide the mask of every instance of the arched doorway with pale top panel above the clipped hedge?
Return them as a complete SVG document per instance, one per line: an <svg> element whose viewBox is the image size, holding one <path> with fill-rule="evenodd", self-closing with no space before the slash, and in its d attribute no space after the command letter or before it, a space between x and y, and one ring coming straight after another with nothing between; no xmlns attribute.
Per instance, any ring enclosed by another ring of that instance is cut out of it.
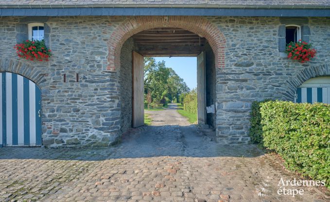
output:
<svg viewBox="0 0 330 202"><path fill-rule="evenodd" d="M330 76L315 77L301 84L297 87L295 102L330 104Z"/></svg>

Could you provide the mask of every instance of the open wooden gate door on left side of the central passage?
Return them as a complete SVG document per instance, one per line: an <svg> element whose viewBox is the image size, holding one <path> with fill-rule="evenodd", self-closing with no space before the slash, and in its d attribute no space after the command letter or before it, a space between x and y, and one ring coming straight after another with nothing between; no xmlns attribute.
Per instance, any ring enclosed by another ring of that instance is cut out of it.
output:
<svg viewBox="0 0 330 202"><path fill-rule="evenodd" d="M144 97L143 97L144 59L136 51L132 53L132 90L133 90L133 128L144 125Z"/></svg>

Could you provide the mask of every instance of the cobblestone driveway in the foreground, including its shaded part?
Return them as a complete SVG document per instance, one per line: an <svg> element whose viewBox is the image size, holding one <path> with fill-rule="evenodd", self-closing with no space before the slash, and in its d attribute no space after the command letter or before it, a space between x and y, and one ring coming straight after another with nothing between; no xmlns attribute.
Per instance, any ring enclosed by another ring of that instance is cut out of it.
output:
<svg viewBox="0 0 330 202"><path fill-rule="evenodd" d="M0 148L0 201L330 201L314 187L279 196L281 177L296 176L254 145L222 146L186 124L142 127L111 148Z"/></svg>

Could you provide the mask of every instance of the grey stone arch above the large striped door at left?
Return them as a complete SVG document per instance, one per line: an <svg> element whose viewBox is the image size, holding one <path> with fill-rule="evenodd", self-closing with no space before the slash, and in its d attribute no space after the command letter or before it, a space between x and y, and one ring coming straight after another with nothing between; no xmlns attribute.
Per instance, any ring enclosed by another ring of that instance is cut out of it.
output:
<svg viewBox="0 0 330 202"><path fill-rule="evenodd" d="M24 76L37 84L39 88L43 79L43 75L31 64L9 58L0 58L0 72L11 72Z"/></svg>

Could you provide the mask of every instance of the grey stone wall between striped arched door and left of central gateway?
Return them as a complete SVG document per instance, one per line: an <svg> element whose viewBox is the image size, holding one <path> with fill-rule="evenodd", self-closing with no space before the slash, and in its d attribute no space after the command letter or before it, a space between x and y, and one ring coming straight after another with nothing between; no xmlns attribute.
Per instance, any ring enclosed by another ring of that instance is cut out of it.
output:
<svg viewBox="0 0 330 202"><path fill-rule="evenodd" d="M121 134L117 72L107 71L107 41L118 18L50 17L49 62L20 60L15 50L16 25L23 17L1 17L1 71L29 77L42 89L43 145L107 146ZM28 71L24 67L29 66ZM23 69L23 70L22 70ZM17 72L18 71L18 72ZM34 72L31 75L31 72ZM75 81L79 73L79 82ZM66 74L67 82L63 82ZM40 78L35 80L34 78Z"/></svg>

